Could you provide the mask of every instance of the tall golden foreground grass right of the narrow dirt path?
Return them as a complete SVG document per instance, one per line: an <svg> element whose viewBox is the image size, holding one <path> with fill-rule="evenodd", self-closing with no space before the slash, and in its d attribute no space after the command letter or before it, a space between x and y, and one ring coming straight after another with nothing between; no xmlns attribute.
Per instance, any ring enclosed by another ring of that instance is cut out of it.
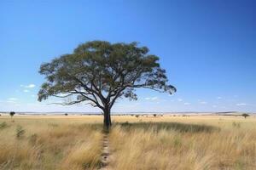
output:
<svg viewBox="0 0 256 170"><path fill-rule="evenodd" d="M113 169L256 168L255 129L125 123L113 128L110 141Z"/></svg>

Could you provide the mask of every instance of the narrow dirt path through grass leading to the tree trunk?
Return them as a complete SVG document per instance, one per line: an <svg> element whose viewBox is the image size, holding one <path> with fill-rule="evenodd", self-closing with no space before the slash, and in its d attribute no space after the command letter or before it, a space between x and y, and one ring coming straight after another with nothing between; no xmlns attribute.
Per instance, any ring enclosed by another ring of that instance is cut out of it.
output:
<svg viewBox="0 0 256 170"><path fill-rule="evenodd" d="M102 146L102 167L100 170L107 170L111 169L109 167L110 162L110 150L109 150L109 139L108 134L104 134L103 136L103 146Z"/></svg>

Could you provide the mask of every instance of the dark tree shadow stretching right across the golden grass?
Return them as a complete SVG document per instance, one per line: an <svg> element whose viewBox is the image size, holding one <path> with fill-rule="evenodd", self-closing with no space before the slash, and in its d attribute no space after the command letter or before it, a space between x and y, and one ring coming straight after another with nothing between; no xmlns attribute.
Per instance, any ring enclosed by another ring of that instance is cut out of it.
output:
<svg viewBox="0 0 256 170"><path fill-rule="evenodd" d="M204 124L190 124L190 123L181 123L181 122L123 122L115 123L114 126L119 125L125 130L132 130L136 128L147 130L154 130L159 132L160 130L174 130L180 133L212 133L217 131L218 127L213 127Z"/></svg>

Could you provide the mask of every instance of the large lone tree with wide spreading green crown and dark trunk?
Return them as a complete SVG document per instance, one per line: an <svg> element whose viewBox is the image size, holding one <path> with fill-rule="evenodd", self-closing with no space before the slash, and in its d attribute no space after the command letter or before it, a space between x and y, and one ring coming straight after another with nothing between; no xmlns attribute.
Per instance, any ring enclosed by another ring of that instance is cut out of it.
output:
<svg viewBox="0 0 256 170"><path fill-rule="evenodd" d="M166 71L159 57L148 54L137 42L85 42L73 54L64 54L41 65L39 73L46 82L38 100L49 96L67 98L60 105L90 104L102 110L104 127L111 126L110 111L121 97L137 99L136 88L149 88L172 94L176 88L167 84Z"/></svg>

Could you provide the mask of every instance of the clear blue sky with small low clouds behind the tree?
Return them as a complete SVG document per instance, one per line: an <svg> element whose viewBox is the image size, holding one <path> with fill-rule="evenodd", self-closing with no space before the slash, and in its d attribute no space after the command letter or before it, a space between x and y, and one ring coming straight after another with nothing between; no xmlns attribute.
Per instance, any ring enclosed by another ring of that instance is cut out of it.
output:
<svg viewBox="0 0 256 170"><path fill-rule="evenodd" d="M0 2L0 111L99 111L37 102L43 62L91 40L140 42L177 94L137 90L113 111L256 112L256 2Z"/></svg>

